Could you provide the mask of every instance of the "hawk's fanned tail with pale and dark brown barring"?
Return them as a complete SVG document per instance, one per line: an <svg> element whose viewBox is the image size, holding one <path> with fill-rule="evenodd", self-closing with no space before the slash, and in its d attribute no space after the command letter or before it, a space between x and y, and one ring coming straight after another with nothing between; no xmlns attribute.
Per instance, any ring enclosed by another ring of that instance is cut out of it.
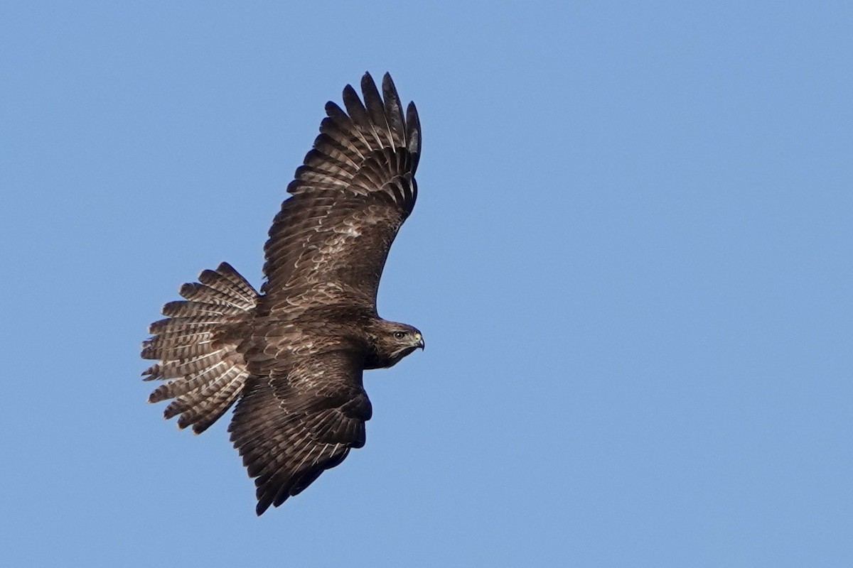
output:
<svg viewBox="0 0 853 568"><path fill-rule="evenodd" d="M234 404L249 375L233 332L246 324L258 292L228 263L206 270L199 282L183 284L184 301L163 307L165 319L151 324L142 358L159 362L142 373L145 381L166 381L148 402L174 399L164 416L202 433Z"/></svg>

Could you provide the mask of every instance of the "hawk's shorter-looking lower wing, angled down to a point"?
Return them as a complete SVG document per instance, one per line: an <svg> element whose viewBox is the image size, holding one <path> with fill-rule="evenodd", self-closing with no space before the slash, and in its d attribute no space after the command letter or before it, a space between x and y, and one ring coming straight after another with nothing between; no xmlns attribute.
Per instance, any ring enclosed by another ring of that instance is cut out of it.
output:
<svg viewBox="0 0 853 568"><path fill-rule="evenodd" d="M256 478L258 514L296 495L364 445L372 408L357 353L301 359L274 376L254 376L237 403L231 441Z"/></svg>

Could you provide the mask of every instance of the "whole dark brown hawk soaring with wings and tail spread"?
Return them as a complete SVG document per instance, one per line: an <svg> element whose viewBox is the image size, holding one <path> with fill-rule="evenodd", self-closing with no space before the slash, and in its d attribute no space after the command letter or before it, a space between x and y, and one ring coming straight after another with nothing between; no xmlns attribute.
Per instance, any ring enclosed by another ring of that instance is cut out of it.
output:
<svg viewBox="0 0 853 568"><path fill-rule="evenodd" d="M264 245L264 283L227 262L183 284L151 324L148 402L202 433L236 403L230 440L256 486L256 513L278 507L365 442L373 414L363 371L417 349L420 330L380 318L376 295L417 198L421 123L386 73L362 98L329 101ZM362 100L363 99L363 100Z"/></svg>

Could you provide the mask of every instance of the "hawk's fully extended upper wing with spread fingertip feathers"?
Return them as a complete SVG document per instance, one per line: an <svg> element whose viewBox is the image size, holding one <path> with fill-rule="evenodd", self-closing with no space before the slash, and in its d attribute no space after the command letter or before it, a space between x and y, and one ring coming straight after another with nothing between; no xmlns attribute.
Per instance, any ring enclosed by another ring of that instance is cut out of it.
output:
<svg viewBox="0 0 853 568"><path fill-rule="evenodd" d="M368 73L362 93L363 103L346 86L346 112L327 103L314 148L287 186L293 197L264 246L261 290L273 311L325 304L330 294L375 309L388 250L415 206L421 125L414 103L403 118L387 73L381 96Z"/></svg>

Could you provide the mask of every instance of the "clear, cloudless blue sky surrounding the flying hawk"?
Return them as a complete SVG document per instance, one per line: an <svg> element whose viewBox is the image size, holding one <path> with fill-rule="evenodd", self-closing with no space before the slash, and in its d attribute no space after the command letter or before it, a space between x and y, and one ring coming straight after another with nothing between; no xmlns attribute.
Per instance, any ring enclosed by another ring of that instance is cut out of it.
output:
<svg viewBox="0 0 853 568"><path fill-rule="evenodd" d="M849 566L850 3L0 6L0 562ZM368 443L260 519L148 324L390 71L420 197Z"/></svg>

